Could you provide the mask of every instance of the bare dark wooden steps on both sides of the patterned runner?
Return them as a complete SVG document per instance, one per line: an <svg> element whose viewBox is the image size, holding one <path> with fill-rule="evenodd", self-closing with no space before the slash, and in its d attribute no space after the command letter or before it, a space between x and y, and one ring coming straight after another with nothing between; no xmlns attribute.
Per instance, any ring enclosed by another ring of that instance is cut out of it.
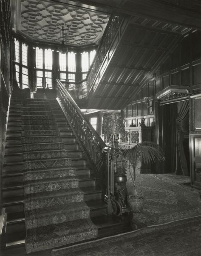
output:
<svg viewBox="0 0 201 256"><path fill-rule="evenodd" d="M76 177L79 179L79 188L84 192L84 201L90 209L90 218L98 228L98 238L122 233L130 230L130 216L126 214L120 218L107 216L107 206L102 200L102 190L95 178L93 169L88 165L84 153L76 141L62 110L56 100L44 99L11 99L8 128L6 134L6 148L3 164L3 207L7 212L7 228L4 237L5 246L12 247L16 244L25 243L25 216L24 216L24 182L23 182L23 151L22 139L24 102L28 103L30 109L32 104L40 105L40 102L51 108L60 141L54 142L64 145L68 157L72 159L71 166L75 168ZM47 136L48 137L48 136ZM55 137L57 137L55 135ZM47 139L48 140L48 139ZM44 144L49 147L50 143ZM45 148L44 148L45 149ZM48 148L47 148L48 149Z"/></svg>

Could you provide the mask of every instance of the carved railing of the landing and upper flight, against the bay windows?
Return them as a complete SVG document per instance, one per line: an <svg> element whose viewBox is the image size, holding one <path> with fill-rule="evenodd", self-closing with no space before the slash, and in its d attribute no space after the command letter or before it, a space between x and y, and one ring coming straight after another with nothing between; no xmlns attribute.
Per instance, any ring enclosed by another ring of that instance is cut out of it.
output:
<svg viewBox="0 0 201 256"><path fill-rule="evenodd" d="M91 90L93 82L97 76L97 73L99 72L102 62L111 46L122 20L123 18L118 14L111 15L86 79L79 82L62 82L65 89L68 90L74 99L83 99L88 96L88 92Z"/></svg>

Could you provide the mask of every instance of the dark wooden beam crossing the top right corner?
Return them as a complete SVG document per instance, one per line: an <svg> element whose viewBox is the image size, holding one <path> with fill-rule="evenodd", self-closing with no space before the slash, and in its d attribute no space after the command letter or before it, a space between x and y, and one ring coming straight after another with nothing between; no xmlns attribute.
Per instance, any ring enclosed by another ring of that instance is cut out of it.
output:
<svg viewBox="0 0 201 256"><path fill-rule="evenodd" d="M64 2L64 0L59 0ZM105 8L112 12L124 13L127 15L141 15L142 17L162 22L187 26L193 29L201 29L201 9L190 9L188 6L179 6L177 1L175 4L164 1L153 0L127 0L127 1L108 1L108 0L77 0L82 4L96 6L97 8ZM184 1L188 2L188 1ZM189 1L190 3L191 1ZM188 5L188 3L186 3Z"/></svg>

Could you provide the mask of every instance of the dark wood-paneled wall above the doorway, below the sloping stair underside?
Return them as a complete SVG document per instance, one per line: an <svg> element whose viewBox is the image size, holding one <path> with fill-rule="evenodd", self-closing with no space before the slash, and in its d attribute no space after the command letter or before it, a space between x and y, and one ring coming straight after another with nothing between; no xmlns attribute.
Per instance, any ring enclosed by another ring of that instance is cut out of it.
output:
<svg viewBox="0 0 201 256"><path fill-rule="evenodd" d="M147 126L154 126L155 96L156 93L167 87L188 86L192 93L201 92L201 31L195 31L182 38L176 49L161 65L160 69L153 73L145 86L133 97L130 104L123 110L127 126L131 122L138 126L142 117ZM152 112L144 103L144 97L148 97L152 103Z"/></svg>

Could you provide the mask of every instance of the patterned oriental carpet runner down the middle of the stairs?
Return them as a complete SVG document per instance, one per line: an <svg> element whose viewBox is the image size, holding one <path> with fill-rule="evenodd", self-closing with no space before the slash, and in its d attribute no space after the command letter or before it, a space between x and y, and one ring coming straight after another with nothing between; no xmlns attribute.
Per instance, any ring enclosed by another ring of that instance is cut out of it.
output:
<svg viewBox="0 0 201 256"><path fill-rule="evenodd" d="M96 237L50 105L28 103L22 107L27 253Z"/></svg>

